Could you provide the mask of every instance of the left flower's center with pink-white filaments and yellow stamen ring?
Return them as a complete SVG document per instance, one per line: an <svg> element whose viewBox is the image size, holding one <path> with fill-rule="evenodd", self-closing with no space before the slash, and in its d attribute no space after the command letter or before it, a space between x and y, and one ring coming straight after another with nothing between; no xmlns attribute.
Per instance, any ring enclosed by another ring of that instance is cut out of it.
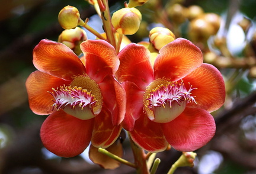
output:
<svg viewBox="0 0 256 174"><path fill-rule="evenodd" d="M55 102L53 108L63 109L67 114L88 120L100 114L103 105L101 90L89 76L76 76L69 86L52 88L49 92Z"/></svg>

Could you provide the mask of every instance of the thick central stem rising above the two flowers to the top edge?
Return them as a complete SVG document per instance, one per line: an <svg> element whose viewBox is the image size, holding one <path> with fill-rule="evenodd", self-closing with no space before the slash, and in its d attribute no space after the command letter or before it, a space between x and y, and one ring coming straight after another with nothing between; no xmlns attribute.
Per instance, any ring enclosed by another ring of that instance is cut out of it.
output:
<svg viewBox="0 0 256 174"><path fill-rule="evenodd" d="M100 0L98 0L99 2ZM116 48L116 37L114 36L114 27L111 23L111 17L110 17L110 9L108 7L108 1L107 0L101 0L103 3L104 8L101 9L101 20L103 21L103 27L107 36L108 42ZM100 4L99 4L100 5ZM103 11L104 9L104 11Z"/></svg>

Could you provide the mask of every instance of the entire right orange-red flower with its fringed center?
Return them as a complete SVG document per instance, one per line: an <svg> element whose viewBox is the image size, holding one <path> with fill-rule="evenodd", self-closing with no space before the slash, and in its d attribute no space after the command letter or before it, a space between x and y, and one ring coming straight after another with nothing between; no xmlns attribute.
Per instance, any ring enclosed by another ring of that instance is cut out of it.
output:
<svg viewBox="0 0 256 174"><path fill-rule="evenodd" d="M210 141L216 126L209 112L223 105L225 85L219 70L203 63L198 47L177 38L152 65L149 50L132 43L119 59L116 76L127 95L122 125L135 143L149 152L168 144L191 152Z"/></svg>

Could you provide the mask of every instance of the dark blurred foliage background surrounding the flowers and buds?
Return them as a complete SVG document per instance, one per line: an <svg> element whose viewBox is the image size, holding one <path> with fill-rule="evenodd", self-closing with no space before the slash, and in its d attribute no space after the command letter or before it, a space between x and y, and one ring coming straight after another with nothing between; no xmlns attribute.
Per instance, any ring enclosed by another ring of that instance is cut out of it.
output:
<svg viewBox="0 0 256 174"><path fill-rule="evenodd" d="M149 0L151 1L154 0ZM231 30L231 21L238 14L251 21L248 31L233 33L235 42L240 36L244 36L244 40L238 43L240 47L235 47L235 53L227 55L221 47L213 47L209 51L196 43L203 50L206 62L213 63L222 72L226 80L227 98L224 107L213 113L217 125L216 136L207 146L197 150L195 167L183 167L176 173L256 173L256 1L162 2L176 2L183 7L199 5L204 12L220 15L223 20L220 28L226 25L228 31ZM89 163L84 155L62 159L47 152L39 137L40 125L46 116L33 114L28 106L24 83L28 75L36 70L32 63L33 48L43 38L57 41L63 31L57 22L57 15L66 5L78 8L82 19L94 15L94 8L82 0L0 0L0 4L0 173L134 173L133 169L123 165L116 170L101 169L100 166ZM110 0L109 4L111 11L123 7L123 1ZM148 24L155 22L152 16L156 11L145 7L146 5L139 7L145 20L142 27L149 30ZM93 22L90 25L94 27ZM180 25L180 36L188 37L188 25L189 21ZM148 30L137 33L130 39L134 42L148 40ZM220 36L226 36L225 34L220 32ZM209 40L207 43L210 45ZM233 40L226 42L229 44ZM247 46L251 48L250 54L245 54ZM212 54L208 54L212 52L215 52L213 60L209 56ZM244 60L245 63L242 62ZM124 158L132 161L129 144L124 141L123 145ZM161 164L158 173L166 173L179 156L180 152L173 149L159 153Z"/></svg>

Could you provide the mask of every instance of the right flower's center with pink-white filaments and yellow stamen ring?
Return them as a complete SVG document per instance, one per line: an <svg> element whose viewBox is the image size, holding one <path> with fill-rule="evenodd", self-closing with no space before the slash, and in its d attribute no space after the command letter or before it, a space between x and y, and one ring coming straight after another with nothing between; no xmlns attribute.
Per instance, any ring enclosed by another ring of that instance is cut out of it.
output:
<svg viewBox="0 0 256 174"><path fill-rule="evenodd" d="M147 88L143 96L144 109L149 119L156 123L168 123L180 115L186 105L195 102L195 96L191 96L192 88L185 88L183 80L169 82L165 79L154 80Z"/></svg>

